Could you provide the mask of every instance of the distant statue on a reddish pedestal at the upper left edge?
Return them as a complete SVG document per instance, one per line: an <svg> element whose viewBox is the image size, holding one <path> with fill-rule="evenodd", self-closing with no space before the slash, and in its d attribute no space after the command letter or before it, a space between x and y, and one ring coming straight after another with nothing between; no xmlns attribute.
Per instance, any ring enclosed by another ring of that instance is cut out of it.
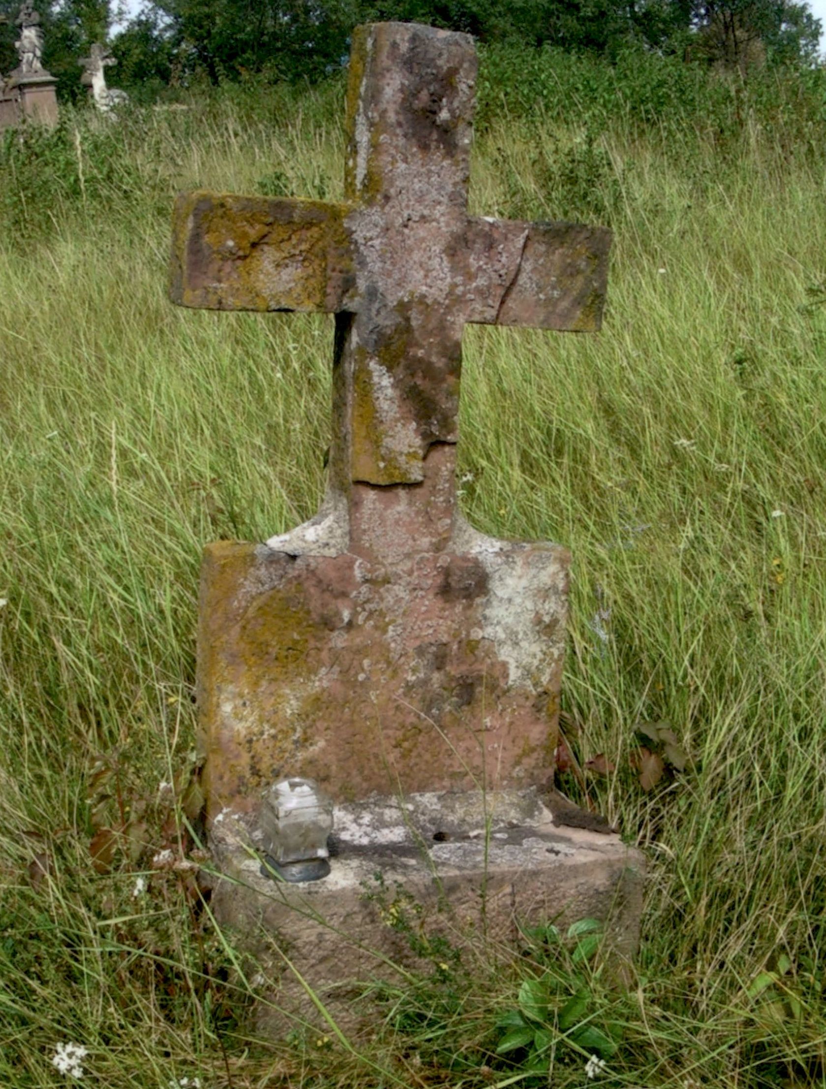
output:
<svg viewBox="0 0 826 1089"><path fill-rule="evenodd" d="M57 125L57 79L42 65L44 34L30 0L21 5L14 25L19 28L14 42L19 63L8 76L0 75L0 130L23 120Z"/></svg>

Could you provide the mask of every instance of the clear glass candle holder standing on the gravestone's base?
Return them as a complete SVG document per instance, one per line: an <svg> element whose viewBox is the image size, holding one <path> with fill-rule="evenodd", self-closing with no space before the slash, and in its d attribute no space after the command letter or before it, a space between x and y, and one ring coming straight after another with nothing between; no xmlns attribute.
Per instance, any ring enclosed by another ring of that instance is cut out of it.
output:
<svg viewBox="0 0 826 1089"><path fill-rule="evenodd" d="M326 837L332 830L333 803L311 779L274 783L261 806L261 872L273 877L274 870L285 881L325 878L330 872Z"/></svg>

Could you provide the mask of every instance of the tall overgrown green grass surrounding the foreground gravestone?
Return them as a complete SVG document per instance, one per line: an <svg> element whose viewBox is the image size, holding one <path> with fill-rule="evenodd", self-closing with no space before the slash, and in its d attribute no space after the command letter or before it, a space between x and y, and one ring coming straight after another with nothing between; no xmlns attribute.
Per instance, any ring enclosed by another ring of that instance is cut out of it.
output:
<svg viewBox="0 0 826 1089"><path fill-rule="evenodd" d="M472 206L611 222L604 331L470 329L460 457L480 528L572 549L566 730L581 766L616 770L562 785L650 860L638 978L584 978L593 1024L622 1028L599 1078L824 1086L821 91L794 107L778 85L775 108L724 85L714 109L641 118L611 94L591 109L559 71L529 115L486 85ZM481 947L435 964L355 1049L332 1030L263 1044L192 874L149 861L189 846L200 548L313 510L332 340L320 318L172 307L171 200L334 197L338 98L67 114L0 158L2 1086L62 1084L61 1041L113 1089L547 1082L527 1052L495 1055L540 953L510 974ZM637 726L662 721L691 762L645 792ZM97 872L93 835L124 822ZM551 963L566 993L579 969ZM552 1081L587 1084L558 1039Z"/></svg>

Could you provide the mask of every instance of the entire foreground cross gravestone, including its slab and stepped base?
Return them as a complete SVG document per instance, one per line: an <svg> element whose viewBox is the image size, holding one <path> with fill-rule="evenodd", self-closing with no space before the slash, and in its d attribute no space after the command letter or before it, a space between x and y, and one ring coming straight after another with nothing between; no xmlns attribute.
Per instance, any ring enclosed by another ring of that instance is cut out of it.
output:
<svg viewBox="0 0 826 1089"><path fill-rule="evenodd" d="M343 203L175 209L174 302L335 315L326 497L207 546L197 695L213 909L345 1019L347 980L410 956L377 874L494 944L562 914L628 954L639 926L639 854L553 800L569 553L479 533L455 479L464 326L597 330L611 235L468 215L476 71L468 35L359 27ZM262 1024L303 996L286 971Z"/></svg>

